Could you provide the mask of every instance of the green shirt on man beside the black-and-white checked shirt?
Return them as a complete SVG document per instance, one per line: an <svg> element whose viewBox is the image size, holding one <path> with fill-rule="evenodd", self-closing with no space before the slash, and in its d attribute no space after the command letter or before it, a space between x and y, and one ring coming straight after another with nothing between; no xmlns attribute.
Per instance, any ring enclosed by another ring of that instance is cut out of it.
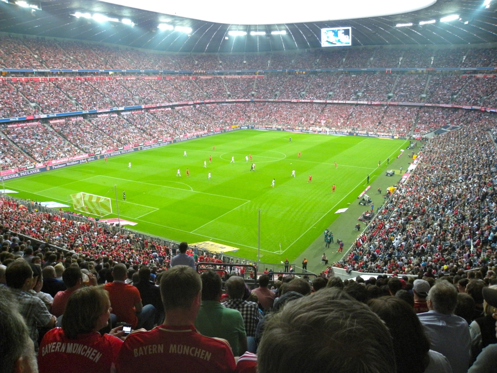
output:
<svg viewBox="0 0 497 373"><path fill-rule="evenodd" d="M215 300L202 300L195 321L197 331L206 337L226 339L234 356L240 354L240 336L245 333L244 319L240 311L226 308Z"/></svg>

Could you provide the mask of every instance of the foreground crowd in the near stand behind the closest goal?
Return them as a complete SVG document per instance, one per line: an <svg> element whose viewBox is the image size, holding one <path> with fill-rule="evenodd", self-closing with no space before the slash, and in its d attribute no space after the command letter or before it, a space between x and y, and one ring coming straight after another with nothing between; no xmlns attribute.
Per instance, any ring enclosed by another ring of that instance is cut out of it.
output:
<svg viewBox="0 0 497 373"><path fill-rule="evenodd" d="M493 372L495 262L410 278L266 270L255 282L185 242L1 202L5 372Z"/></svg>

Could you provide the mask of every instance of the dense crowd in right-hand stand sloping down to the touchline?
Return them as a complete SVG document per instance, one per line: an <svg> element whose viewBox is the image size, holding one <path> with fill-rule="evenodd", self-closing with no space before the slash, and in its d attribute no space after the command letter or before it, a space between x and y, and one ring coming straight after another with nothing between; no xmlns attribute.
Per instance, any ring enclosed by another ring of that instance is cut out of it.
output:
<svg viewBox="0 0 497 373"><path fill-rule="evenodd" d="M444 274L497 259L496 149L482 114L429 140L421 162L336 266ZM457 151L464 149L464 151Z"/></svg>

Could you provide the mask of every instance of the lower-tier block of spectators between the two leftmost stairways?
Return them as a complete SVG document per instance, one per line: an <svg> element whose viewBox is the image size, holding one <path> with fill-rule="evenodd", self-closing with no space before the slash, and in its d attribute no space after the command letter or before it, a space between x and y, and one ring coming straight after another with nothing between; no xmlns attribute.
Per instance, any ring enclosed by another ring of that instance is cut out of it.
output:
<svg viewBox="0 0 497 373"><path fill-rule="evenodd" d="M43 124L4 128L3 133L23 152L38 162L75 156L81 153L73 144Z"/></svg>

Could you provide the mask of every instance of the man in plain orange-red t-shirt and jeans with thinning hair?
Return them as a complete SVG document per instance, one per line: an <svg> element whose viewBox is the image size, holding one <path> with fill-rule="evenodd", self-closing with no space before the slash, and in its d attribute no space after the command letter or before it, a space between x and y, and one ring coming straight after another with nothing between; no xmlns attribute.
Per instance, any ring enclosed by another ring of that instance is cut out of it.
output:
<svg viewBox="0 0 497 373"><path fill-rule="evenodd" d="M116 264L112 269L112 277L114 281L107 282L104 287L109 292L110 306L112 313L116 315L116 321L131 324L133 329L152 329L156 309L152 304L144 307L138 289L126 283L126 265Z"/></svg>

